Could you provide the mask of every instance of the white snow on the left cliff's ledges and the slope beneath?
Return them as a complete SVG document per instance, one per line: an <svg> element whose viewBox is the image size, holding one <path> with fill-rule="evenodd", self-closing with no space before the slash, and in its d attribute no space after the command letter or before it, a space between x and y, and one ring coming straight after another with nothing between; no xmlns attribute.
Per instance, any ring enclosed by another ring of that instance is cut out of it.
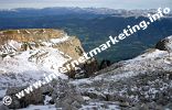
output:
<svg viewBox="0 0 172 110"><path fill-rule="evenodd" d="M28 30L25 32L30 34ZM68 37L66 34L61 38L51 38L43 42L46 45L37 48L34 47L34 42L29 42L33 46L32 50L23 52L21 52L22 43L13 40L7 41L0 46L0 88L30 85L51 74L67 79L68 77L61 74L58 68L72 57L53 48L52 45L65 42Z"/></svg>

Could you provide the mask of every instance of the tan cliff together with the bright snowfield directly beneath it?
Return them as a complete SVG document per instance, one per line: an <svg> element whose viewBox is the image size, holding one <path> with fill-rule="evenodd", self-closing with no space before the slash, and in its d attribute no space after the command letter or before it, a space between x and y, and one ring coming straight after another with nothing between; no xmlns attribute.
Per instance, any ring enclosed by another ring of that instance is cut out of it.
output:
<svg viewBox="0 0 172 110"><path fill-rule="evenodd" d="M43 33L43 34L41 34ZM52 36L51 36L52 35ZM79 55L76 52L63 52L67 42L79 42L58 30L11 30L1 32L0 45L0 88L30 85L43 77L58 73L65 63ZM75 43L68 50L80 44ZM71 56L67 54L71 53ZM75 57L74 57L75 56Z"/></svg>

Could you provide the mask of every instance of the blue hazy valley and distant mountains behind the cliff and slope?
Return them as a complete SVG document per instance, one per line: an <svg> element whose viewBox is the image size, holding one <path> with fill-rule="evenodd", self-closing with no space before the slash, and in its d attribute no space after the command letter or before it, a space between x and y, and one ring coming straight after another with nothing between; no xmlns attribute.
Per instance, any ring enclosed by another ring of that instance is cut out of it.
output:
<svg viewBox="0 0 172 110"><path fill-rule="evenodd" d="M0 11L0 30L8 29L61 29L78 36L85 51L104 43L109 35L118 35L127 25L147 20L152 10L114 10L106 8L45 8L12 9ZM163 18L146 31L139 31L121 43L98 55L98 59L118 62L141 54L172 34L172 14Z"/></svg>

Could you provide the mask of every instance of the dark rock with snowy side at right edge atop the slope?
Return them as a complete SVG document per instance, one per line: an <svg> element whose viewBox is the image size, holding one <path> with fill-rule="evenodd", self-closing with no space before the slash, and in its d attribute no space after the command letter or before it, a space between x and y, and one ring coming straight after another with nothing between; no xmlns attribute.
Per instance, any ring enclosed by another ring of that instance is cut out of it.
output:
<svg viewBox="0 0 172 110"><path fill-rule="evenodd" d="M158 42L155 48L172 52L172 36L165 37Z"/></svg>

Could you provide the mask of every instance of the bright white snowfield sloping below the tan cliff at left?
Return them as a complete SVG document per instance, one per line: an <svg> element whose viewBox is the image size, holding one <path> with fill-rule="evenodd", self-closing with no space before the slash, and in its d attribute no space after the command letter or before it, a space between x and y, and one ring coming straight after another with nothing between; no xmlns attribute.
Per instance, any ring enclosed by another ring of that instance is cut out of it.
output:
<svg viewBox="0 0 172 110"><path fill-rule="evenodd" d="M8 55L0 59L0 87L24 86L41 79L44 74L47 76L57 73L61 78L67 78L58 72L58 67L68 59L55 48L41 47L15 54L13 57Z"/></svg>

